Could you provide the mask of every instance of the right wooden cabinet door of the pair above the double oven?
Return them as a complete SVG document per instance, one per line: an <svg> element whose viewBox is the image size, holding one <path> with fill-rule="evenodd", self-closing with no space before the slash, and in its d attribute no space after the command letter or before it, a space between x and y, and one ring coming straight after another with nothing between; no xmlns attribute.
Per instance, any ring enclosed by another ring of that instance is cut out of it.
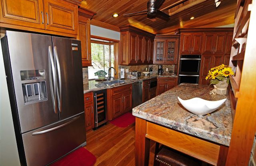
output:
<svg viewBox="0 0 256 166"><path fill-rule="evenodd" d="M191 54L202 54L203 33L192 34Z"/></svg>

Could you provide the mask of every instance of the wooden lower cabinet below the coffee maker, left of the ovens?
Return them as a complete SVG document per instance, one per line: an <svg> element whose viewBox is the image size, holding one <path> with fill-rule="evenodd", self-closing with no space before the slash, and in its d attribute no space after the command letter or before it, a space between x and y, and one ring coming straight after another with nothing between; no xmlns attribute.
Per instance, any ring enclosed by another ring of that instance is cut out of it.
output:
<svg viewBox="0 0 256 166"><path fill-rule="evenodd" d="M163 77L163 78L157 78L157 90L156 94L162 94L173 87L178 85L178 79L177 78L168 78L168 77Z"/></svg>

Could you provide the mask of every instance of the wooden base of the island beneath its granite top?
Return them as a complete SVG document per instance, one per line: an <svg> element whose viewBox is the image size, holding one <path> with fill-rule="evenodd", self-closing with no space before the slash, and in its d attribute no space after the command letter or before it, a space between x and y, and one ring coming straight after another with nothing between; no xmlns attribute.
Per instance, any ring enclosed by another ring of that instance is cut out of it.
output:
<svg viewBox="0 0 256 166"><path fill-rule="evenodd" d="M150 140L215 166L226 163L228 147L136 117L136 166L148 166Z"/></svg>

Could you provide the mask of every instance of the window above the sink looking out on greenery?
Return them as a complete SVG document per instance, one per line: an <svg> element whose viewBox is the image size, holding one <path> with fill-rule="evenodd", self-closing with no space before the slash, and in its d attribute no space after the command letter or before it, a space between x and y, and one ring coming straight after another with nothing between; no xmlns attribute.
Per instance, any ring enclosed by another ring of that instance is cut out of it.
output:
<svg viewBox="0 0 256 166"><path fill-rule="evenodd" d="M88 77L89 79L95 79L94 73L103 70L108 73L109 67L114 67L114 43L104 43L92 41L92 66L88 67ZM114 69L110 71L111 77L114 77ZM106 78L108 74L106 75Z"/></svg>

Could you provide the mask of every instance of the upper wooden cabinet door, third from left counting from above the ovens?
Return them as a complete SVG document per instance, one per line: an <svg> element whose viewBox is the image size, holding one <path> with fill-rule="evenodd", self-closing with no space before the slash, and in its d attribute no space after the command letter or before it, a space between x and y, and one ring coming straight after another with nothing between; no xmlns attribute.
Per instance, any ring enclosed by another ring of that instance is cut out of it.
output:
<svg viewBox="0 0 256 166"><path fill-rule="evenodd" d="M214 36L214 33L204 34L203 54L213 54Z"/></svg>

